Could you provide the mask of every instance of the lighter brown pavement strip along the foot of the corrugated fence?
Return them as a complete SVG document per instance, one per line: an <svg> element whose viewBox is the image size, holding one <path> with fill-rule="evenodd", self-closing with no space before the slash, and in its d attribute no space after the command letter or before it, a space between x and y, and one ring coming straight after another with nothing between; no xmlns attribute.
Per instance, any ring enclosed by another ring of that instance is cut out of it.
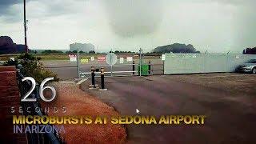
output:
<svg viewBox="0 0 256 144"><path fill-rule="evenodd" d="M237 73L213 73L213 74L174 74L162 75L160 78L167 78L170 81L186 82L198 86L226 90L230 93L243 93L256 95L256 75ZM149 77L154 80L158 77Z"/></svg>

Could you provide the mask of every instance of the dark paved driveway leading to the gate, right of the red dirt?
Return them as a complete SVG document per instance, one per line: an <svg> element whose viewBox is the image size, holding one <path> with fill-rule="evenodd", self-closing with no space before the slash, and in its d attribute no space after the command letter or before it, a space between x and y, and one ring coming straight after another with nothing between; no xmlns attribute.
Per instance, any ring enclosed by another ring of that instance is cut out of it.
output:
<svg viewBox="0 0 256 144"><path fill-rule="evenodd" d="M106 78L108 91L82 89L122 115L205 114L204 126L128 125L130 143L255 143L256 98L174 82L172 76Z"/></svg>

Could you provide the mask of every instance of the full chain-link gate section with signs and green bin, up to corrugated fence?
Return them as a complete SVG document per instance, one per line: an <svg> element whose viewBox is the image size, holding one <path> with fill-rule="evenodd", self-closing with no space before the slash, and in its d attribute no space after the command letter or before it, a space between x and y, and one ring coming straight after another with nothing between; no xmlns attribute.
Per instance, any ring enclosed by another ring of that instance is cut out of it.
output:
<svg viewBox="0 0 256 144"><path fill-rule="evenodd" d="M78 78L90 78L92 66L95 77L100 77L102 67L106 77L163 74L160 56L144 55L142 49L138 54L78 54L77 59Z"/></svg>

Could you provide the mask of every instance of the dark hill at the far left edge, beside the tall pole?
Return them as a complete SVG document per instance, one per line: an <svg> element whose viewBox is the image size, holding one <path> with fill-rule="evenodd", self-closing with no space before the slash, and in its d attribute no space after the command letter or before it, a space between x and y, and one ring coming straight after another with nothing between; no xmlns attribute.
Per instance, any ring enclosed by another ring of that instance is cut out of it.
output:
<svg viewBox="0 0 256 144"><path fill-rule="evenodd" d="M18 45L8 36L0 36L0 54L16 54L26 52L25 45Z"/></svg>

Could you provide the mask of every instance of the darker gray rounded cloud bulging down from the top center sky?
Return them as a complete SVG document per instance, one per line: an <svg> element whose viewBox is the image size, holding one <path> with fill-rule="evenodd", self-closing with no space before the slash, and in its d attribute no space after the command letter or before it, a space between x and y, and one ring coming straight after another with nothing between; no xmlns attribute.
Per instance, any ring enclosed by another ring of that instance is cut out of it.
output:
<svg viewBox="0 0 256 144"><path fill-rule="evenodd" d="M103 6L111 29L121 37L154 33L162 21L162 1L112 0L104 1Z"/></svg>

